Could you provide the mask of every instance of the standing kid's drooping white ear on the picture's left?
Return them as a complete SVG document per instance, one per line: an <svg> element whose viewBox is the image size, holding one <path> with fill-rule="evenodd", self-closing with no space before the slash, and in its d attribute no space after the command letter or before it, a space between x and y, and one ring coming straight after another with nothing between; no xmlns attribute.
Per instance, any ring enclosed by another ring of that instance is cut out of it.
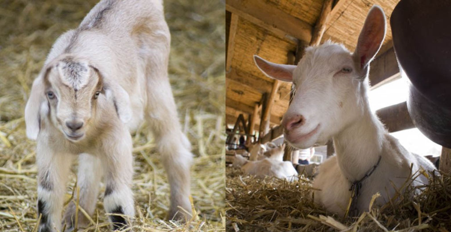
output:
<svg viewBox="0 0 451 232"><path fill-rule="evenodd" d="M37 139L39 130L41 130L41 111L44 111L44 114L49 111L46 104L44 81L50 70L51 67L41 70L41 73L34 79L30 96L25 106L25 125L28 139Z"/></svg>

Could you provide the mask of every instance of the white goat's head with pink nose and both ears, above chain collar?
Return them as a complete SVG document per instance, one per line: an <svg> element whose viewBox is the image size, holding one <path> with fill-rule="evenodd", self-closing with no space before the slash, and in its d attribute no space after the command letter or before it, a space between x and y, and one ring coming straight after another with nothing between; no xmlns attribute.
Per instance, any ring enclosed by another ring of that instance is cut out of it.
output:
<svg viewBox="0 0 451 232"><path fill-rule="evenodd" d="M373 6L352 54L342 45L326 42L306 48L297 66L254 56L264 74L294 84L295 95L282 120L290 144L298 148L324 144L361 115L369 63L379 51L385 28L384 12Z"/></svg>

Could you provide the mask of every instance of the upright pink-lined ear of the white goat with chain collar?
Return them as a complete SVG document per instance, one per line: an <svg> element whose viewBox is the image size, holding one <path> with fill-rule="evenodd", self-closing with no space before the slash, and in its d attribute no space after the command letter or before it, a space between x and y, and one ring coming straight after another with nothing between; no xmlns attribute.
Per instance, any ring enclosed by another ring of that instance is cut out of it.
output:
<svg viewBox="0 0 451 232"><path fill-rule="evenodd" d="M357 68L366 69L369 62L376 56L384 41L385 30L384 11L379 6L374 5L368 12L353 54Z"/></svg>

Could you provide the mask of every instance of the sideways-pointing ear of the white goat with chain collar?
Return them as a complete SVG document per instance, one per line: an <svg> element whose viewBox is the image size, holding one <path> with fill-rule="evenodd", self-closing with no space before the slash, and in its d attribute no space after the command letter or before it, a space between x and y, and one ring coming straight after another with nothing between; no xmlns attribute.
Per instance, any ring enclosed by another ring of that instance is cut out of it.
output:
<svg viewBox="0 0 451 232"><path fill-rule="evenodd" d="M272 79L293 82L293 71L296 65L280 65L269 62L260 56L254 55L254 62L258 69Z"/></svg>

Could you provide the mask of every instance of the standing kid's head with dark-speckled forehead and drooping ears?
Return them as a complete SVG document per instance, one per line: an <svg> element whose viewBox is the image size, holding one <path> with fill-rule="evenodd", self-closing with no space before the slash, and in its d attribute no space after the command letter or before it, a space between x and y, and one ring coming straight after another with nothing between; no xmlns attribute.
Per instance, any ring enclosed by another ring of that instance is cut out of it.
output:
<svg viewBox="0 0 451 232"><path fill-rule="evenodd" d="M33 83L25 108L27 136L36 139L41 117L48 116L67 139L81 140L101 102L108 98L114 101L120 119L129 121L129 96L122 87L108 83L86 58L59 56L42 69Z"/></svg>

